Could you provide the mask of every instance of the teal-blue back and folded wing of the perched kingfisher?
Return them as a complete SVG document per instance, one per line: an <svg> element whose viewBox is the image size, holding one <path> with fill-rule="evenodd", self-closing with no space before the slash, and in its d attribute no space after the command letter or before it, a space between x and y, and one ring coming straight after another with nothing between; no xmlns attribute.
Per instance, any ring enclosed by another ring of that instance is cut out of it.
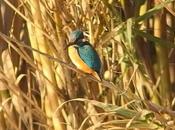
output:
<svg viewBox="0 0 175 130"><path fill-rule="evenodd" d="M93 49L89 42L79 42L77 47L80 58L98 74L100 74L101 61L97 52Z"/></svg>

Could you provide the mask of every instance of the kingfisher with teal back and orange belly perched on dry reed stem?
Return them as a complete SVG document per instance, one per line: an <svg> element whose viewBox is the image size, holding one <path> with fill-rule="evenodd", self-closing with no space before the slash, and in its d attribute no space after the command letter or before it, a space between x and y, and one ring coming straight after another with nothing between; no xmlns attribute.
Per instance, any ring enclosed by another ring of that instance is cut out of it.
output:
<svg viewBox="0 0 175 130"><path fill-rule="evenodd" d="M93 46L85 40L83 32L79 29L71 32L69 42L68 55L72 63L79 70L101 81L101 60Z"/></svg>

